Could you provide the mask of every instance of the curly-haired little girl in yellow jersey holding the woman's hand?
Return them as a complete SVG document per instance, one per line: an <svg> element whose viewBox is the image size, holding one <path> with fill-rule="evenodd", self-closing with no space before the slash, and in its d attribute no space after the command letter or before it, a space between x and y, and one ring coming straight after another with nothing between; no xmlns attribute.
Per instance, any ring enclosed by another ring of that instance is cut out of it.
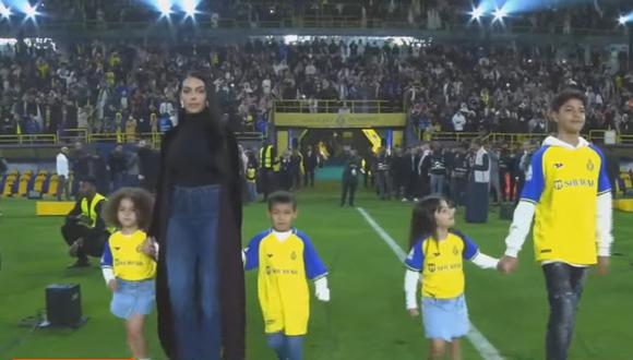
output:
<svg viewBox="0 0 633 360"><path fill-rule="evenodd" d="M155 299L156 263L144 232L152 208L148 192L123 188L110 196L104 209L106 221L119 229L106 242L101 257L101 272L112 291L110 312L126 320L128 346L139 360L150 359L143 328Z"/></svg>

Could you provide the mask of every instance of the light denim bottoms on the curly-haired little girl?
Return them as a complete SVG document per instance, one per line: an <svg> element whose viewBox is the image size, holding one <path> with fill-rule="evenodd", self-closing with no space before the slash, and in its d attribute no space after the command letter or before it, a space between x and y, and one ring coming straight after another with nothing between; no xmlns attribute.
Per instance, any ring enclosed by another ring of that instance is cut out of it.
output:
<svg viewBox="0 0 633 360"><path fill-rule="evenodd" d="M128 320L152 313L156 299L154 279L128 281L117 278L117 286L110 302L110 312L115 316Z"/></svg>

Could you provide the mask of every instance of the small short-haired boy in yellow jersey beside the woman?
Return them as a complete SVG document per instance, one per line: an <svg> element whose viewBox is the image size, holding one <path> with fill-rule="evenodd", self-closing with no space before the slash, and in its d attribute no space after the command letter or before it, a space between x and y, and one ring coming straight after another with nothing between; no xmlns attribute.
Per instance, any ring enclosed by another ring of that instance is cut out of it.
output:
<svg viewBox="0 0 633 360"><path fill-rule="evenodd" d="M268 346L279 360L300 360L310 317L307 279L314 281L316 299L330 301L327 269L308 236L292 228L298 214L295 196L279 191L268 195L267 203L273 227L244 249L244 268L259 268L258 295Z"/></svg>

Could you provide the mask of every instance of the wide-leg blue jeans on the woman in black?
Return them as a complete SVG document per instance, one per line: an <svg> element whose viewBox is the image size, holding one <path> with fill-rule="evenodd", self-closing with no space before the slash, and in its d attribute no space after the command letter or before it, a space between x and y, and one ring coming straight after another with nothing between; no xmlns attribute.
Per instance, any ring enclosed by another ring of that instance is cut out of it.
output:
<svg viewBox="0 0 633 360"><path fill-rule="evenodd" d="M167 285L179 360L219 360L217 219L220 187L174 189Z"/></svg>

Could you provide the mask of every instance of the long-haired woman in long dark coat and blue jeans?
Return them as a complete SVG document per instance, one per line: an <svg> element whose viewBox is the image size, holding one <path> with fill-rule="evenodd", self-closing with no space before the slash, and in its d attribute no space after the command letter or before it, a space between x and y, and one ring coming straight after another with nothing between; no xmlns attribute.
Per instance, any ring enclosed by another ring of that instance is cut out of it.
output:
<svg viewBox="0 0 633 360"><path fill-rule="evenodd" d="M237 142L190 73L160 148L154 220L158 335L170 359L244 359L241 171ZM211 101L213 104L213 101Z"/></svg>

